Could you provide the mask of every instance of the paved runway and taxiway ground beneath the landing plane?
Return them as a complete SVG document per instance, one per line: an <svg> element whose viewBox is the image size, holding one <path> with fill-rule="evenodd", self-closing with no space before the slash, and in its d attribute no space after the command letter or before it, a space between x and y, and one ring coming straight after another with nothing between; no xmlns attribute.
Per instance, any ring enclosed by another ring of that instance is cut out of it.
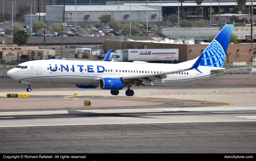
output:
<svg viewBox="0 0 256 161"><path fill-rule="evenodd" d="M26 86L0 80L0 152L255 153L255 78L139 86L133 97L125 90L112 96L107 90L41 84L21 99L6 94L27 93ZM84 106L84 100L92 105Z"/></svg>

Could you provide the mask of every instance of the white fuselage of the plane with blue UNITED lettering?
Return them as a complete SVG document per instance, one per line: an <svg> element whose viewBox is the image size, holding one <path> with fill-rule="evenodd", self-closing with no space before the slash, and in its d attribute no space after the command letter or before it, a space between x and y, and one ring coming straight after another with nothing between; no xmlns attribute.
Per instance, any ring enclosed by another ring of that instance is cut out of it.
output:
<svg viewBox="0 0 256 161"><path fill-rule="evenodd" d="M19 64L27 66L26 69L14 68L8 75L18 81L31 83L62 83L62 84L88 84L98 85L100 78L117 78L152 74L186 69L180 64L135 63L135 62L100 62L100 61L72 61L72 60L38 60ZM56 70L57 68L57 70ZM104 69L104 71L103 71ZM211 72L217 67L199 66L198 72L194 69L169 74L164 78L165 83L152 81L156 87L174 87L194 84L211 80L224 74ZM105 71L107 70L107 71ZM186 74L184 74L184 72ZM125 80L125 82L134 80ZM145 85L152 86L144 83Z"/></svg>

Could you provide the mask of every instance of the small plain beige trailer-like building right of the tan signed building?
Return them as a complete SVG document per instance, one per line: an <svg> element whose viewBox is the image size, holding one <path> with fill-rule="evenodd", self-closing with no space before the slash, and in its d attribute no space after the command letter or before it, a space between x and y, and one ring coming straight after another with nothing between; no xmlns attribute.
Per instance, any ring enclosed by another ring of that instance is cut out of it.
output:
<svg viewBox="0 0 256 161"><path fill-rule="evenodd" d="M29 58L32 60L43 60L45 56L55 55L55 50L51 49L30 49Z"/></svg>

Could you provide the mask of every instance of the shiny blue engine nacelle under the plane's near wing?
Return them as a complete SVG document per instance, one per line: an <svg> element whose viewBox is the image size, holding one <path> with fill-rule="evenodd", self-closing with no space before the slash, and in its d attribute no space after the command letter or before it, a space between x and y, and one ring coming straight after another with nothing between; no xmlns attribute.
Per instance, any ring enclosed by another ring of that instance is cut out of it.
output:
<svg viewBox="0 0 256 161"><path fill-rule="evenodd" d="M121 79L116 78L102 78L100 80L100 88L103 90L122 90L127 83Z"/></svg>

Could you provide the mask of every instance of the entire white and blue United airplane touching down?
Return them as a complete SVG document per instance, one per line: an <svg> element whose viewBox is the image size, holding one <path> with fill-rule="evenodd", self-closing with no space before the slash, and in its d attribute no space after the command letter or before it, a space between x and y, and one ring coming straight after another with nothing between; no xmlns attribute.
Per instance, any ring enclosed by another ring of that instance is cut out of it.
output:
<svg viewBox="0 0 256 161"><path fill-rule="evenodd" d="M198 58L179 64L108 62L110 50L102 62L29 61L11 69L7 75L27 84L29 92L31 83L62 83L85 89L100 86L103 90L111 90L112 95L118 95L119 90L127 87L127 96L134 94L131 86L175 87L210 81L231 70L222 68L222 65L232 30L233 25L225 25Z"/></svg>

